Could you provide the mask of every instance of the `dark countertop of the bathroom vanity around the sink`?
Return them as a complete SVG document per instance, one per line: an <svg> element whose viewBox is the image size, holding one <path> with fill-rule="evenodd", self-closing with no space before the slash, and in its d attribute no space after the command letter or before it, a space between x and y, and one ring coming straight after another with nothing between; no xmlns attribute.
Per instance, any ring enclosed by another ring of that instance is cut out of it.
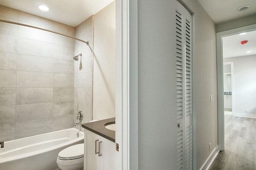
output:
<svg viewBox="0 0 256 170"><path fill-rule="evenodd" d="M90 123L84 123L82 124L82 127L92 131L93 133L96 133L97 135L100 135L112 142L116 142L116 131L109 130L105 127L106 123L110 122L116 122L116 118L110 118L110 119L104 119L99 121L94 121Z"/></svg>

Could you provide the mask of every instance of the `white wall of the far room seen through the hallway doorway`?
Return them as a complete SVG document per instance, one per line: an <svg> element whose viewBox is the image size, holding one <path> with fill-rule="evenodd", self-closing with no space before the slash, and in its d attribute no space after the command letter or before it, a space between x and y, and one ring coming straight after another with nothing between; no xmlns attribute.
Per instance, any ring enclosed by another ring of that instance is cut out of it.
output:
<svg viewBox="0 0 256 170"><path fill-rule="evenodd" d="M235 108L233 112L256 117L256 55L223 59L223 62L230 61L234 62L232 95L235 95ZM245 109L248 109L248 112Z"/></svg>

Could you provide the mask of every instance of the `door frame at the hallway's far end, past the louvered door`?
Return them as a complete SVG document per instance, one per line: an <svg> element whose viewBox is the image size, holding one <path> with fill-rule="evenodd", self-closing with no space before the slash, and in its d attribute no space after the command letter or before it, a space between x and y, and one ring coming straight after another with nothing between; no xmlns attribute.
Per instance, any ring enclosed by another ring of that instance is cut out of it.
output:
<svg viewBox="0 0 256 170"><path fill-rule="evenodd" d="M218 144L219 150L224 150L224 93L223 93L223 56L222 37L256 30L256 24L230 29L216 33L217 45L217 88L218 88ZM232 108L233 109L233 108Z"/></svg>

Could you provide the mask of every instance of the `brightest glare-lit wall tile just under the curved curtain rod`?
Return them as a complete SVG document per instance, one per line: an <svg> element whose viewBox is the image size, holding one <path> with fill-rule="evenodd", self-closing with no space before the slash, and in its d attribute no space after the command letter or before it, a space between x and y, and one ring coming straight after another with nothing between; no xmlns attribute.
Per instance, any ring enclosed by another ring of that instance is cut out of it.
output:
<svg viewBox="0 0 256 170"><path fill-rule="evenodd" d="M19 25L18 37L54 43L54 33Z"/></svg>

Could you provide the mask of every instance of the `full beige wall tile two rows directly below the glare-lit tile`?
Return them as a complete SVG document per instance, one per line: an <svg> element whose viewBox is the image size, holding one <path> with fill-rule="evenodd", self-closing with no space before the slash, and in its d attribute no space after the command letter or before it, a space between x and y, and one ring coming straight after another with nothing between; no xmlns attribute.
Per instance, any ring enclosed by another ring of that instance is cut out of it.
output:
<svg viewBox="0 0 256 170"><path fill-rule="evenodd" d="M17 70L53 72L54 59L47 57L36 57L32 55L18 54Z"/></svg>

